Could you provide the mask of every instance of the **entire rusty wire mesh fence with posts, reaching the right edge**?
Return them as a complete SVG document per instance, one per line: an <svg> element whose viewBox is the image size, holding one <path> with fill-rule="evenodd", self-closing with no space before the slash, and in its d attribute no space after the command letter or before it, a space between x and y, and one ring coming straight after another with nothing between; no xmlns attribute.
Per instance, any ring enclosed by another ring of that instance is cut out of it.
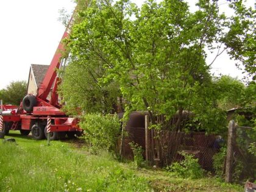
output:
<svg viewBox="0 0 256 192"><path fill-rule="evenodd" d="M256 129L237 126L235 121L231 122L233 128L230 129L229 126L227 132L222 133L223 140L219 135L206 135L205 132L146 129L149 121L146 120L145 114L134 113L133 121L127 123L121 152L123 157L132 160L133 152L129 143L133 141L142 147L143 157L149 164L160 167L182 161L184 157L181 152L185 152L198 158L202 168L216 176L225 177L227 182L254 181ZM231 151L229 146L232 146Z"/></svg>

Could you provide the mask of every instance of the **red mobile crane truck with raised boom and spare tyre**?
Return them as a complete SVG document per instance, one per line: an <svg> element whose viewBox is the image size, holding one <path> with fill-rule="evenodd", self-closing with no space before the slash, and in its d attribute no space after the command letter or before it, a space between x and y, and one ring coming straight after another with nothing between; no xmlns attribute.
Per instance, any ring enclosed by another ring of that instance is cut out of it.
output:
<svg viewBox="0 0 256 192"><path fill-rule="evenodd" d="M69 25L66 27L62 40L68 37L68 28ZM74 135L81 135L82 129L77 124L79 120L65 115L60 110L61 105L58 102L57 86L60 78L57 77L56 69L59 69L65 63L61 54L61 51L65 51L62 40L52 58L43 82L38 88L37 95L27 94L18 108L11 105L5 105L5 108L3 108L0 116L2 137L9 130L20 130L22 135L29 135L32 132L32 137L35 140L41 140L46 137L46 124L49 118L51 119L51 140L63 138L65 135L68 135L69 138L74 137ZM47 97L51 88L51 99L48 100Z"/></svg>

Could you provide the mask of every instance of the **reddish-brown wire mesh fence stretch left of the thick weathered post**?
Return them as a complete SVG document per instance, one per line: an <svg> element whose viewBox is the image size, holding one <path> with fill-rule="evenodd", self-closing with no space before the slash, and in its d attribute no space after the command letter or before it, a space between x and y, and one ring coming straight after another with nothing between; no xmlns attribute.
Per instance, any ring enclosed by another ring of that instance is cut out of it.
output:
<svg viewBox="0 0 256 192"><path fill-rule="evenodd" d="M143 148L145 158L146 151L149 163L158 166L171 165L172 162L180 162L183 156L180 152L192 154L199 159L199 164L207 171L213 171L213 155L219 150L215 135L205 135L205 132L171 132L169 130L151 129L148 135L144 127L127 127L126 137L123 140L123 157L132 159L133 153L129 143L134 141ZM148 149L146 150L145 137L148 137Z"/></svg>

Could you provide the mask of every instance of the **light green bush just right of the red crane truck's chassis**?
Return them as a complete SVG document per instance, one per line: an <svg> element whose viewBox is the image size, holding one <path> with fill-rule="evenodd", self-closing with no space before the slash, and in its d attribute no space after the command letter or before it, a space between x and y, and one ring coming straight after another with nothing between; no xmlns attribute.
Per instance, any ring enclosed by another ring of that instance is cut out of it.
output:
<svg viewBox="0 0 256 192"><path fill-rule="evenodd" d="M80 126L85 130L84 138L94 153L99 150L117 152L121 126L117 115L87 114L82 118Z"/></svg>

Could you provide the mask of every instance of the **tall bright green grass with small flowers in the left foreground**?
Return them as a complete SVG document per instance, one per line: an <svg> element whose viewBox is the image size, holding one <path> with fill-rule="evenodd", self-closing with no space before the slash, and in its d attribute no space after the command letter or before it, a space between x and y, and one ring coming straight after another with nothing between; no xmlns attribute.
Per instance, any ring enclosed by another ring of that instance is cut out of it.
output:
<svg viewBox="0 0 256 192"><path fill-rule="evenodd" d="M149 191L148 182L108 155L89 155L68 143L16 138L0 141L0 191Z"/></svg>

